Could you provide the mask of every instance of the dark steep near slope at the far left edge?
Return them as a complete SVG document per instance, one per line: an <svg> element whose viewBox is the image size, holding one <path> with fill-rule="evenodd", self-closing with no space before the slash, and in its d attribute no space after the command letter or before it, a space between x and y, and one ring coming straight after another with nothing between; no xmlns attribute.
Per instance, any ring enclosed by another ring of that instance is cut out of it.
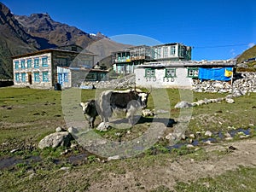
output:
<svg viewBox="0 0 256 192"><path fill-rule="evenodd" d="M35 51L40 45L27 34L10 10L0 3L0 79L12 79L12 55Z"/></svg>

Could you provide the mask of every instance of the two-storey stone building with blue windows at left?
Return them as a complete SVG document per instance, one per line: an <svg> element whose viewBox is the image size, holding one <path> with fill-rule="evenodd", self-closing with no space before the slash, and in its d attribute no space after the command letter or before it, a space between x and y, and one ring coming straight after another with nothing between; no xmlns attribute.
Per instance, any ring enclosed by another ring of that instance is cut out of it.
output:
<svg viewBox="0 0 256 192"><path fill-rule="evenodd" d="M52 88L59 82L57 67L93 67L95 55L79 51L72 45L13 56L15 86Z"/></svg>

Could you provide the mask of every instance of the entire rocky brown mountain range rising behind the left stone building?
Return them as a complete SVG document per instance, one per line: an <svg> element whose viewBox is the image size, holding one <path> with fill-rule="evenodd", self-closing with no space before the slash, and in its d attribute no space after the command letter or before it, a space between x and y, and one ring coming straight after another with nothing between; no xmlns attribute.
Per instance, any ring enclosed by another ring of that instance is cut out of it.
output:
<svg viewBox="0 0 256 192"><path fill-rule="evenodd" d="M84 49L90 45L88 49L98 55L96 61L130 46L113 42L101 32L87 33L57 22L48 14L13 15L0 3L0 79L13 79L11 56L67 44L77 44Z"/></svg>

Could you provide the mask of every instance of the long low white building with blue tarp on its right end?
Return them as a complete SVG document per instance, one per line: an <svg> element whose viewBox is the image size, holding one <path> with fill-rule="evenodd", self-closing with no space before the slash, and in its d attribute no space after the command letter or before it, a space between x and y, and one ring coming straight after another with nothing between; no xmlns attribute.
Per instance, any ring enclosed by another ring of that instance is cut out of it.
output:
<svg viewBox="0 0 256 192"><path fill-rule="evenodd" d="M193 79L231 81L236 60L147 62L135 69L136 84L154 88L189 88Z"/></svg>

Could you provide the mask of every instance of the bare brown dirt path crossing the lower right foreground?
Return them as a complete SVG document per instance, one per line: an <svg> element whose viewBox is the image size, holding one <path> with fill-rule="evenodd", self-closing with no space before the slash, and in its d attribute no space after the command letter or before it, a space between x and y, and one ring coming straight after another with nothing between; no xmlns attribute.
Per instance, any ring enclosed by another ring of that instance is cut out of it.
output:
<svg viewBox="0 0 256 192"><path fill-rule="evenodd" d="M233 146L236 150L219 155L211 151L224 152ZM256 166L256 139L241 140L233 143L218 143L206 147L211 153L207 160L192 160L185 156L177 160L166 160L165 165L138 167L139 171L114 174L101 181L91 183L89 191L150 191L160 185L173 189L177 181L187 182L200 177L214 177L238 166Z"/></svg>

